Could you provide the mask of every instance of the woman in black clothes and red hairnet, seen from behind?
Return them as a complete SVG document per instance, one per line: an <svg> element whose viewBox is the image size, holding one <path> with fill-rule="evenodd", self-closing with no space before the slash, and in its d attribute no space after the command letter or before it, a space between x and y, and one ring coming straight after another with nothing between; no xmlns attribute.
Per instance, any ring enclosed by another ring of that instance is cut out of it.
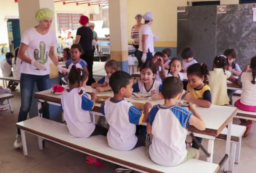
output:
<svg viewBox="0 0 256 173"><path fill-rule="evenodd" d="M93 37L93 32L90 27L87 26L89 22L89 18L87 16L81 16L79 23L82 25L80 28L78 28L76 32L76 44L81 44L83 48L83 54L81 56L81 59L86 61L87 63L87 68L89 72L89 79L87 82L87 85L91 85L92 83L95 82L95 79L92 76L92 65L93 65L93 56L94 56L94 51L92 47L92 40L94 39Z"/></svg>

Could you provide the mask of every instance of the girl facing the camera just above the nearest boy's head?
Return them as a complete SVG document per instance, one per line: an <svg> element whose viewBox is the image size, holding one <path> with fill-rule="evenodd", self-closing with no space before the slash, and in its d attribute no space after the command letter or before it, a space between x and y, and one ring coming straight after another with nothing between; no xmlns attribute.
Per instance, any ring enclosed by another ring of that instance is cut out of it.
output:
<svg viewBox="0 0 256 173"><path fill-rule="evenodd" d="M183 81L183 75L180 72L180 70L182 70L181 60L178 57L172 58L170 62L170 67L167 73L167 77L174 76L174 77L178 77L181 81Z"/></svg>

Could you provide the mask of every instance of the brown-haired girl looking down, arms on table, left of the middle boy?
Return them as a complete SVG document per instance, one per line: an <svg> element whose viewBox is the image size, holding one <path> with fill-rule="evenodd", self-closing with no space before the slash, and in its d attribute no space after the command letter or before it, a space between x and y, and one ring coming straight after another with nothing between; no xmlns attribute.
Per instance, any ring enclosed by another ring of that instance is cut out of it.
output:
<svg viewBox="0 0 256 173"><path fill-rule="evenodd" d="M102 77L102 79L96 81L91 86L96 88L98 92L109 91L111 87L109 86L109 77L115 72L120 70L119 65L116 60L110 59L105 63L105 71L107 75Z"/></svg>

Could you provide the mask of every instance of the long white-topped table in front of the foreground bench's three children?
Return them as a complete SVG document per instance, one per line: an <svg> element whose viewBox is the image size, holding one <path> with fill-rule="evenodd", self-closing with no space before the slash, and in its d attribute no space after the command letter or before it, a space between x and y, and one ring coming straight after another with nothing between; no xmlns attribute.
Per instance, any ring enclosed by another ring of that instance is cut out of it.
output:
<svg viewBox="0 0 256 173"><path fill-rule="evenodd" d="M90 86L87 86L85 88L85 91L88 93L95 91ZM98 96L113 96L113 93L105 93L105 94L98 94ZM38 99L38 110L41 108L41 103L47 101L49 104L53 105L61 105L61 98L62 95L53 95L50 94L49 91L41 91L34 93L34 97ZM144 101L137 101L133 98L126 98L127 101L130 102L139 102L139 103L146 103L149 102L152 105L157 104L163 104L164 100L157 100L154 101L152 98L149 98ZM204 119L204 122L206 124L206 130L200 131L196 129L192 124L189 126L188 131L193 133L194 136L198 136L201 138L208 139L208 152L211 154L210 157L208 157L207 161L212 162L213 161L213 146L214 146L214 140L215 138L220 134L220 132L225 128L225 126L228 125L228 135L227 135L227 142L226 142L226 151L225 151L225 157L227 158L230 151L230 142L231 142L231 124L232 119L235 117L237 113L237 108L235 107L228 107L228 106L218 106L218 105L211 105L210 108L197 108L198 112L201 114L201 116ZM93 115L100 115L103 116L100 113L100 104L96 103L94 109L91 111ZM40 115L39 115L40 116ZM93 116L94 117L94 116ZM95 122L95 119L94 119ZM228 170L228 161L225 162L224 170Z"/></svg>

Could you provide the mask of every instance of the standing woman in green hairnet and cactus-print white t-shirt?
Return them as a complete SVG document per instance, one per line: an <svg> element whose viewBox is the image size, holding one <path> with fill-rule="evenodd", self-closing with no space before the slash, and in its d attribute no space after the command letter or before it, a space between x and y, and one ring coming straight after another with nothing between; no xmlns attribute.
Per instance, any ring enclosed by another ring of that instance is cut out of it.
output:
<svg viewBox="0 0 256 173"><path fill-rule="evenodd" d="M38 25L28 28L22 35L18 57L21 59L21 108L19 110L18 122L25 121L31 107L34 85L38 91L50 89L50 57L57 66L58 58L54 53L57 47L56 33L50 30L53 12L43 8L36 12ZM58 68L58 67L57 67ZM62 71L59 69L59 71ZM49 119L49 109L43 109L43 117ZM18 129L14 148L21 148L21 132Z"/></svg>

